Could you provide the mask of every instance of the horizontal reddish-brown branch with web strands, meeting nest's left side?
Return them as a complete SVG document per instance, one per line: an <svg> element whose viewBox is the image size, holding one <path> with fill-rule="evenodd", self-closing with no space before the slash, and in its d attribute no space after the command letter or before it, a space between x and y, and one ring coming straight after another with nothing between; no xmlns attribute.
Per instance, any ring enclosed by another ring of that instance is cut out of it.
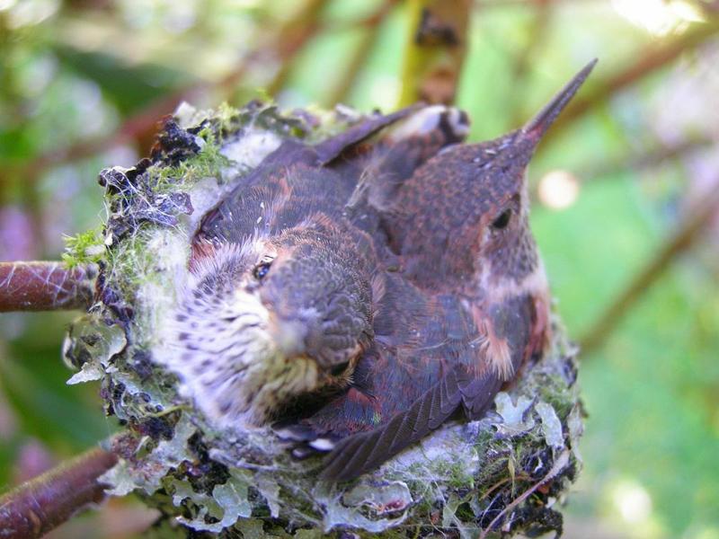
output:
<svg viewBox="0 0 719 539"><path fill-rule="evenodd" d="M0 262L0 313L85 309L93 301L94 265Z"/></svg>

